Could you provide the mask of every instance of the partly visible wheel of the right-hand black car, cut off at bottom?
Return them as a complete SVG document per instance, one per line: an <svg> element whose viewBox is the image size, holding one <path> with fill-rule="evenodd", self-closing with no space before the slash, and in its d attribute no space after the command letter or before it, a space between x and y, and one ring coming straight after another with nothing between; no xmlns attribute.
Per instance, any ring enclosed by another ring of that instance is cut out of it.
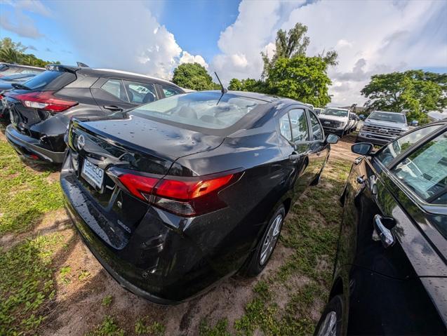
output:
<svg viewBox="0 0 447 336"><path fill-rule="evenodd" d="M335 295L326 304L316 325L314 336L340 336L342 335L343 297Z"/></svg>

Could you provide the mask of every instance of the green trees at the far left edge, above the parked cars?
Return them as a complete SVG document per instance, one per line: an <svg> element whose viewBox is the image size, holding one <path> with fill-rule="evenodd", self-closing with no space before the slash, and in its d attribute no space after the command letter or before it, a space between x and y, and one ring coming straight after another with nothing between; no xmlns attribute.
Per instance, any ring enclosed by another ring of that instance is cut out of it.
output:
<svg viewBox="0 0 447 336"><path fill-rule="evenodd" d="M45 67L48 64L60 64L36 58L33 54L27 54L27 47L21 42L13 42L9 37L0 40L0 62L18 63L20 65L32 65L33 67Z"/></svg>

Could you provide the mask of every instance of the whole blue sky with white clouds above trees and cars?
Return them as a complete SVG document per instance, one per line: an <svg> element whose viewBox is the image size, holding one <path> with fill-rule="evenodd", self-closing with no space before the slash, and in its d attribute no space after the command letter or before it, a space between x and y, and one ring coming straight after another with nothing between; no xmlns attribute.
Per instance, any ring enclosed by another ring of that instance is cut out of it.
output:
<svg viewBox="0 0 447 336"><path fill-rule="evenodd" d="M199 62L227 83L259 78L278 29L307 25L308 55L338 52L329 69L335 104L362 104L371 75L447 72L447 1L0 0L0 37L44 60L170 79ZM32 50L35 48L36 50Z"/></svg>

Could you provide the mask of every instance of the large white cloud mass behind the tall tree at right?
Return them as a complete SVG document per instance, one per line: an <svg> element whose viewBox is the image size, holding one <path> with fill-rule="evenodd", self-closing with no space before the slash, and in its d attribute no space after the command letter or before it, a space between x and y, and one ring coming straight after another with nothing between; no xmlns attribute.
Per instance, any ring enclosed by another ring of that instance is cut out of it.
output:
<svg viewBox="0 0 447 336"><path fill-rule="evenodd" d="M242 1L211 67L225 81L259 78L260 52L272 53L276 31L302 22L309 28L309 55L338 51L339 65L329 71L333 102L361 105L360 90L373 74L447 67L446 17L445 1Z"/></svg>

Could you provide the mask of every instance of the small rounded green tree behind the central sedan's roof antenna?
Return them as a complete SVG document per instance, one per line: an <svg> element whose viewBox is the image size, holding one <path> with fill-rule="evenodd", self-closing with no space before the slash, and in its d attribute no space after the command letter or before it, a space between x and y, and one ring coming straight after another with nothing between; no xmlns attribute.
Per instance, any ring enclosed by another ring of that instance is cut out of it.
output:
<svg viewBox="0 0 447 336"><path fill-rule="evenodd" d="M216 90L220 85L199 63L183 63L174 69L173 83L191 90Z"/></svg>

